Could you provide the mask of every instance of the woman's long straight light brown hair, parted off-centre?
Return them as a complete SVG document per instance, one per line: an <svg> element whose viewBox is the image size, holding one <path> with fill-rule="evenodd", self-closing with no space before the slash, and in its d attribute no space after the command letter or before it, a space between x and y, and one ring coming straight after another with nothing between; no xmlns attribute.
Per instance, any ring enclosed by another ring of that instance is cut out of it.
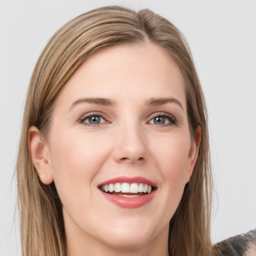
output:
<svg viewBox="0 0 256 256"><path fill-rule="evenodd" d="M61 202L54 182L37 177L27 146L28 128L43 137L51 123L58 91L89 55L107 45L144 43L161 46L178 64L184 81L190 134L201 126L201 143L192 176L169 225L169 255L211 254L211 171L206 107L186 40L168 20L151 10L120 6L97 8L62 26L42 51L30 80L16 165L21 245L24 256L65 256Z"/></svg>

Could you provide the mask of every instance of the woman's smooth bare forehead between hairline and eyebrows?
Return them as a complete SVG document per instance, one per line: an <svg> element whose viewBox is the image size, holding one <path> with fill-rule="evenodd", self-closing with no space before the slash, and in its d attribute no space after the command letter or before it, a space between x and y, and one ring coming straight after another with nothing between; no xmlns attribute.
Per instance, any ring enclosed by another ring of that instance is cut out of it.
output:
<svg viewBox="0 0 256 256"><path fill-rule="evenodd" d="M177 64L159 46L114 45L93 53L72 74L57 102L79 97L104 97L140 101L152 97L175 97L185 107L182 75Z"/></svg>

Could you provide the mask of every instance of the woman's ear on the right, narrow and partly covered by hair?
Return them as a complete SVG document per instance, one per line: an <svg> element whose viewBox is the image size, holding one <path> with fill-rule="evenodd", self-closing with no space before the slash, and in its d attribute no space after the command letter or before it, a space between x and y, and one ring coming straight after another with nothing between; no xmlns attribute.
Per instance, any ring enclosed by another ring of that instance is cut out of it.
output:
<svg viewBox="0 0 256 256"><path fill-rule="evenodd" d="M189 181L192 175L193 168L198 156L200 142L201 142L201 126L198 125L195 128L194 138L191 139L190 150L188 153L187 166L186 166L186 183Z"/></svg>

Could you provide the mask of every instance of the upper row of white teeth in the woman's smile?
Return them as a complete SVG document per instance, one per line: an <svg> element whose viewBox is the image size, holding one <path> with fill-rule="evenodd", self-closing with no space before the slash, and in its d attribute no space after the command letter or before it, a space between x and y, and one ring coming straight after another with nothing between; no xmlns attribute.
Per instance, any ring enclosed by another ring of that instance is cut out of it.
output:
<svg viewBox="0 0 256 256"><path fill-rule="evenodd" d="M109 183L100 186L100 189L105 192L112 193L113 191L116 193L132 193L133 195L136 193L150 193L152 191L152 187L148 184L144 183L127 183L127 182L117 182L117 183ZM135 196L135 195L134 195ZM130 197L130 195L128 196Z"/></svg>

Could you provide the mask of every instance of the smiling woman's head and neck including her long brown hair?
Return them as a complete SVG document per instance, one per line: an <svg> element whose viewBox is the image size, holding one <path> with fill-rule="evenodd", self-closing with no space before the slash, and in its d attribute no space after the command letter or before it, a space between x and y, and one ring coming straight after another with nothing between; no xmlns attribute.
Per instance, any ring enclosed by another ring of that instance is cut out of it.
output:
<svg viewBox="0 0 256 256"><path fill-rule="evenodd" d="M150 10L60 28L31 77L17 160L23 255L211 255L206 107Z"/></svg>

